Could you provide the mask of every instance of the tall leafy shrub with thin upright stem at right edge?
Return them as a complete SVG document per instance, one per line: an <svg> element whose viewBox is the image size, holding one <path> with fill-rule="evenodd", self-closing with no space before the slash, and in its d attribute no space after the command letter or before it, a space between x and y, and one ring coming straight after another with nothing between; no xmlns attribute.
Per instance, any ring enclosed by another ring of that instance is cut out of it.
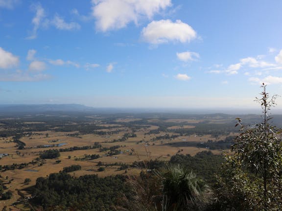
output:
<svg viewBox="0 0 282 211"><path fill-rule="evenodd" d="M221 210L271 211L282 207L281 129L270 125L270 108L275 98L269 97L262 85L263 121L253 127L244 126L237 118L242 133L236 137L233 154L226 156L218 184Z"/></svg>

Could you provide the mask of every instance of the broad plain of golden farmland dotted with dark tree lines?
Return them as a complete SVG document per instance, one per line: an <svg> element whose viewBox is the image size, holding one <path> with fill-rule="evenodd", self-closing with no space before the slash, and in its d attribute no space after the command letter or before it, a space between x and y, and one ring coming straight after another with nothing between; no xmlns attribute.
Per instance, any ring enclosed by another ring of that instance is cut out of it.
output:
<svg viewBox="0 0 282 211"><path fill-rule="evenodd" d="M135 161L169 161L176 154L195 155L203 150L221 154L238 134L235 117L89 112L2 115L0 180L13 195L0 202L0 210L4 206L23 210L22 199L32 196L26 190L38 177L72 165L81 167L69 172L74 177L138 175L141 167L133 165ZM253 124L259 116L246 115L245 119ZM59 156L42 158L51 149Z"/></svg>

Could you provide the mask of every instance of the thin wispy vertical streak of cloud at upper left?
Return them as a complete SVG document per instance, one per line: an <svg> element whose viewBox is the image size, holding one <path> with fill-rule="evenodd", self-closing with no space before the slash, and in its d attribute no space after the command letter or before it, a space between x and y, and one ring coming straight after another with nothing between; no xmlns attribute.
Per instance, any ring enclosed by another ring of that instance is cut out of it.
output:
<svg viewBox="0 0 282 211"><path fill-rule="evenodd" d="M40 4L33 4L31 9L35 11L35 17L31 21L33 29L31 35L27 37L27 39L35 39L37 37L37 30L45 17L45 11Z"/></svg>

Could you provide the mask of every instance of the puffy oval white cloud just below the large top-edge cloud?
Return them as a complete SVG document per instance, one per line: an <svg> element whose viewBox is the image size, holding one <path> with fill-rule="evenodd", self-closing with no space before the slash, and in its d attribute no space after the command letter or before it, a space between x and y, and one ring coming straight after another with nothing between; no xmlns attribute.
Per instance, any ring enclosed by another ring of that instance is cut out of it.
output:
<svg viewBox="0 0 282 211"><path fill-rule="evenodd" d="M180 20L152 21L142 29L141 38L144 42L161 44L169 41L190 42L197 33L187 23Z"/></svg>

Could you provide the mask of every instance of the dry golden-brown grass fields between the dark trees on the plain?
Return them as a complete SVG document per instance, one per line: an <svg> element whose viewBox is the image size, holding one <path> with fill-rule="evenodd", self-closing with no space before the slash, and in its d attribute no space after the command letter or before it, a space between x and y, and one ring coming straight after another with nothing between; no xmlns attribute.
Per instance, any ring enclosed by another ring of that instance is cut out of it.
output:
<svg viewBox="0 0 282 211"><path fill-rule="evenodd" d="M88 118L90 118L88 116ZM159 134L148 134L151 130L156 130L159 126L156 125L136 125L139 129L134 131L136 137L129 137L127 140L122 142L113 142L113 140L118 140L124 136L125 133L132 133L132 129L129 127L122 127L118 123L130 123L132 121L139 121L140 118L118 118L115 122L117 124L103 124L101 120L103 118L97 118L91 116L93 121L97 126L102 127L113 127L98 129L96 131L116 131L118 133L107 134L107 135L98 135L98 134L79 134L77 137L70 136L79 133L79 131L71 132L56 132L53 130L46 131L33 131L32 135L26 135L21 137L21 141L25 143L24 149L19 150L16 147L16 143L13 142L12 137L0 138L0 154L8 154L0 159L0 165L13 165L13 164L22 164L28 163L28 166L24 169L14 169L14 170L5 170L0 172L1 180L6 184L9 190L13 192L13 197L10 200L0 201L0 210L4 206L8 206L11 210L28 210L24 208L23 203L15 206L12 206L14 202L21 198L19 191L26 194L23 190L24 188L35 185L36 179L38 177L47 177L50 173L59 172L64 167L69 167L71 165L80 165L81 170L70 172L73 176L81 176L86 174L98 174L99 176L109 176L115 174L126 174L126 175L136 175L139 174L141 169L131 167L125 170L118 170L119 166L115 164L132 164L134 161L144 161L149 159L159 159L168 161L171 156L182 153L195 155L197 152L203 150L209 150L207 148L197 148L197 147L174 147L170 146L169 143L176 142L207 142L208 140L217 141L223 140L226 136L218 136L216 138L211 135L199 136L196 134L188 136L178 136L176 138L162 139L160 137L168 134L172 136L172 132L160 132ZM220 120L213 120L215 123ZM157 123L160 122L159 119L150 119L148 123ZM194 125L203 122L199 119L167 119L165 123L175 123L183 125L175 125L167 127L167 129L181 129L181 128L194 128ZM43 124L44 122L24 122L24 124ZM71 123L76 124L76 123ZM93 123L94 124L94 123ZM190 124L190 125L185 125ZM0 129L3 124L0 124ZM117 128L115 128L117 127ZM230 134L236 135L236 134ZM159 137L159 138L158 138ZM158 139L157 139L158 138ZM82 147L82 146L93 146L95 142L98 142L102 148L103 147L112 147L119 145L120 153L117 155L109 156L108 151L100 151L99 148L84 149L84 150L75 150L75 151L66 151L60 152L60 157L56 159L45 159L41 161L42 166L39 163L31 164L32 161L35 161L40 153L47 149L60 149L60 148L71 148L71 147ZM52 144L64 144L60 147L48 147L48 148L38 148L38 146L52 145ZM212 150L215 154L222 153L222 150ZM98 154L100 157L95 160L82 160L85 155ZM60 163L56 161L60 160ZM99 172L97 163L101 162L105 167L105 171ZM7 178L7 179L6 179ZM29 178L31 182L24 184L24 179ZM28 194L26 194L28 196Z"/></svg>

